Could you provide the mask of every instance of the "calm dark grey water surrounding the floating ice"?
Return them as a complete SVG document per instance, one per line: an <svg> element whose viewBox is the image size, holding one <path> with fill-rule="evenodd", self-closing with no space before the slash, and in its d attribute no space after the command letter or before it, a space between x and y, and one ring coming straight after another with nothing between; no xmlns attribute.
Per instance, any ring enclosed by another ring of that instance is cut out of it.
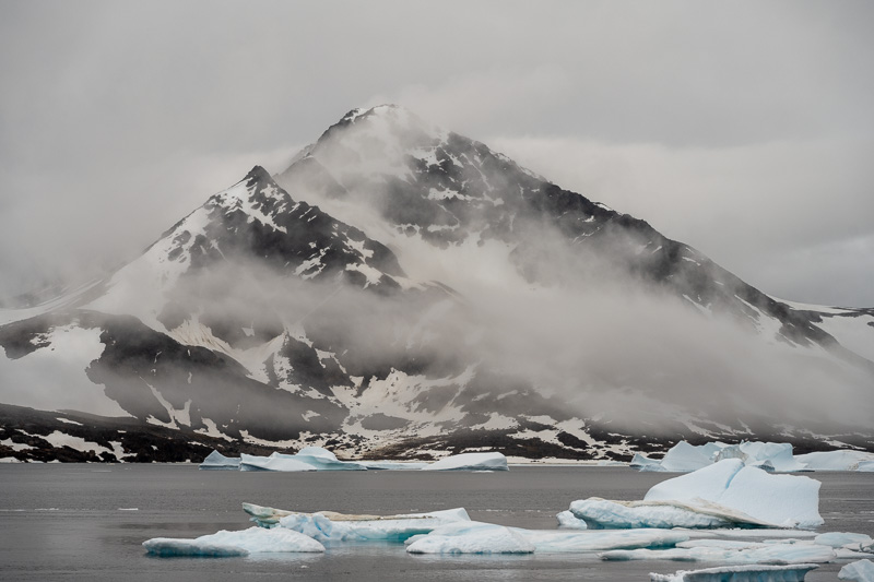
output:
<svg viewBox="0 0 874 582"><path fill-rule="evenodd" d="M627 467L513 467L506 473L238 473L190 465L0 465L2 580L649 580L685 562L601 562L591 556L411 556L361 544L323 555L153 558L150 537L196 537L250 524L241 501L298 511L404 513L464 507L474 520L554 528L590 496L640 499L672 475ZM820 531L874 536L874 474L817 473ZM137 511L131 511L135 508ZM807 575L836 580L840 565Z"/></svg>

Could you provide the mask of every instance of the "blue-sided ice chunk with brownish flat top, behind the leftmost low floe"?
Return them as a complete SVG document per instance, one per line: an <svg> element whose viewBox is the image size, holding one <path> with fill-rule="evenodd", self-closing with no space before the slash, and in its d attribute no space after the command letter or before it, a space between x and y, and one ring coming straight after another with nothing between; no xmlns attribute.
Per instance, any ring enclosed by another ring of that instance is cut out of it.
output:
<svg viewBox="0 0 874 582"><path fill-rule="evenodd" d="M320 542L395 541L427 534L452 522L469 522L464 509L411 513L406 515L342 515L332 512L291 513L279 520L282 527Z"/></svg>

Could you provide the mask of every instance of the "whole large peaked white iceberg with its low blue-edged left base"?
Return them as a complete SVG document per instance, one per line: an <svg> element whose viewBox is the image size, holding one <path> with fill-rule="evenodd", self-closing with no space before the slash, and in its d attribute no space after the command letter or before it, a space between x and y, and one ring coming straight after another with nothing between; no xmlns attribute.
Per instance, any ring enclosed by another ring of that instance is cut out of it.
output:
<svg viewBox="0 0 874 582"><path fill-rule="evenodd" d="M728 459L662 482L642 501L589 498L570 512L589 527L816 527L819 482Z"/></svg>

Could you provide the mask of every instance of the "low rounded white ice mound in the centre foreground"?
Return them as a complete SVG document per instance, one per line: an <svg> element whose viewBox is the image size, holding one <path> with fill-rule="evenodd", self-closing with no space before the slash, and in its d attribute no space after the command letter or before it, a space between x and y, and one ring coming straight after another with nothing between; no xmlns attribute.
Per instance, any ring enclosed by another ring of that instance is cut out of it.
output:
<svg viewBox="0 0 874 582"><path fill-rule="evenodd" d="M534 545L503 525L460 522L441 525L406 546L410 554L532 554Z"/></svg>

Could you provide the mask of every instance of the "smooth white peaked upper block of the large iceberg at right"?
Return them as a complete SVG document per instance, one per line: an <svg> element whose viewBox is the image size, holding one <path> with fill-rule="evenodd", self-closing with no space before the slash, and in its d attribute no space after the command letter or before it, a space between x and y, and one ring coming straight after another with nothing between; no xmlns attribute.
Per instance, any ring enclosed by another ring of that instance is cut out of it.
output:
<svg viewBox="0 0 874 582"><path fill-rule="evenodd" d="M819 486L808 477L770 475L744 466L737 459L727 459L654 485L643 499L690 506L704 500L771 526L812 528L825 523L819 515Z"/></svg>

